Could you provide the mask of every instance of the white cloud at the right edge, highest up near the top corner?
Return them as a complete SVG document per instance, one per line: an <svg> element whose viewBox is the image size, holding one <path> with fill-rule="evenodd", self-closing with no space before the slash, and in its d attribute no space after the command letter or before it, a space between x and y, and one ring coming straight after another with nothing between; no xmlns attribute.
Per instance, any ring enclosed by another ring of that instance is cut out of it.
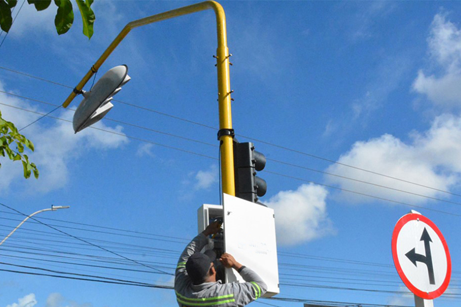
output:
<svg viewBox="0 0 461 307"><path fill-rule="evenodd" d="M461 30L435 15L427 40L433 66L440 68L441 76L426 75L422 70L413 83L413 90L426 95L435 105L461 106Z"/></svg>

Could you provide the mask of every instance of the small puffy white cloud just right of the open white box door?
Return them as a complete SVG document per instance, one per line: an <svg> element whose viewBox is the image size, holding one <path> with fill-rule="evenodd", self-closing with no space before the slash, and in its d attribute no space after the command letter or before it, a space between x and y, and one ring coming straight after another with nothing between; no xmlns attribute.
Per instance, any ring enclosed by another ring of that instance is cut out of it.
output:
<svg viewBox="0 0 461 307"><path fill-rule="evenodd" d="M266 201L275 210L277 243L294 245L334 232L327 216L328 191L303 184L296 191L281 191Z"/></svg>

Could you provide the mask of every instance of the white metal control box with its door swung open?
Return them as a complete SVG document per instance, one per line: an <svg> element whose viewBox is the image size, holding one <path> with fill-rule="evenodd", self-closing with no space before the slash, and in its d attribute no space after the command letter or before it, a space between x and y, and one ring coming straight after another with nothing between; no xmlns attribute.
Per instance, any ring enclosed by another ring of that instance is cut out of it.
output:
<svg viewBox="0 0 461 307"><path fill-rule="evenodd" d="M198 231L203 231L210 220L223 217L224 251L263 278L268 285L265 297L280 293L274 210L227 194L223 194L223 200L224 209L209 204L198 209ZM244 280L238 272L226 268L225 281Z"/></svg>

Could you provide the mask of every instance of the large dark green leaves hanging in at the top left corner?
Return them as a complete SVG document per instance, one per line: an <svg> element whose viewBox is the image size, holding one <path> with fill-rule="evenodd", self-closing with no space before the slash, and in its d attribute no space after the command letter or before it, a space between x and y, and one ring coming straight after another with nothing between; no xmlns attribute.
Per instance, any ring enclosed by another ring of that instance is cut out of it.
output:
<svg viewBox="0 0 461 307"><path fill-rule="evenodd" d="M83 22L83 34L91 39L93 36L93 24L95 15L91 9L93 0L76 0L77 6L80 10ZM12 10L17 5L18 0L0 0L0 27L3 31L10 31L13 23ZM34 5L37 11L47 9L51 0L27 0L27 3ZM55 27L59 35L66 33L74 23L74 11L72 10L72 3L70 0L54 0L55 5L58 7L55 17Z"/></svg>

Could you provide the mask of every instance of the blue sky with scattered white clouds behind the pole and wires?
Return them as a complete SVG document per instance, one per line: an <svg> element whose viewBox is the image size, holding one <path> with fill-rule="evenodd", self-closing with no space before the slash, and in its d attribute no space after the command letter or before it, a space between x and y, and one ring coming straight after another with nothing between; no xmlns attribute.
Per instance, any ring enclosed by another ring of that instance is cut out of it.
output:
<svg viewBox="0 0 461 307"><path fill-rule="evenodd" d="M21 128L53 110L128 22L192 3L96 1L91 40L77 12L58 36L54 9L37 13L26 4L0 48L3 117ZM390 241L397 220L415 209L450 248L452 281L435 304L457 306L461 3L222 6L233 125L239 141L260 140L256 148L268 158L260 176L268 182L262 201L276 211L278 297L414 305ZM9 263L0 269L172 284L158 269L173 272L196 234L197 208L219 203L215 50L211 11L135 29L96 76L126 64L132 78L95 125L105 131L74 134L56 119L72 119L80 97L22 131L36 145L30 157L40 178L25 180L18 162L2 160L0 202L27 214L71 205L37 217L94 245L27 223L0 246ZM3 237L21 216L0 210ZM265 303L302 305L252 305ZM172 290L159 288L6 271L0 278L0 307L126 305L176 303Z"/></svg>

